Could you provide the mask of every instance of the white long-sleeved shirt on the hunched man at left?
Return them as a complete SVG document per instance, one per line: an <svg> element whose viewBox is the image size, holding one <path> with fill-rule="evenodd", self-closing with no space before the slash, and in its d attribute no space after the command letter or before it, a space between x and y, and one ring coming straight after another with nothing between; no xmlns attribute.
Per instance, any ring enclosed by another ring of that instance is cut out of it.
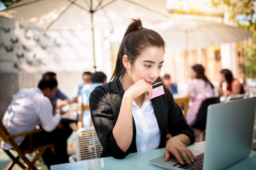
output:
<svg viewBox="0 0 256 170"><path fill-rule="evenodd" d="M2 122L10 134L19 134L32 131L39 124L45 131L51 132L60 120L60 113L52 115L51 101L36 87L35 89L22 89L16 94L4 113ZM20 145L24 138L25 136L15 138L17 145ZM3 141L1 141L1 147L11 148Z"/></svg>

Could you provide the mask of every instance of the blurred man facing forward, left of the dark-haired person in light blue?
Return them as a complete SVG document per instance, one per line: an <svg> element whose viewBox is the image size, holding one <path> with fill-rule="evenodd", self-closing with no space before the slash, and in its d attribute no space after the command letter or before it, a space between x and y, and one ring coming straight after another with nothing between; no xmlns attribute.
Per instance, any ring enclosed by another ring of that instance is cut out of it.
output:
<svg viewBox="0 0 256 170"><path fill-rule="evenodd" d="M83 73L83 76L82 76L83 83L77 85L72 92L72 101L73 102L76 102L76 103L78 102L78 97L81 96L81 90L82 90L83 85L92 83L91 76L92 76L92 73L90 71L85 71Z"/></svg>

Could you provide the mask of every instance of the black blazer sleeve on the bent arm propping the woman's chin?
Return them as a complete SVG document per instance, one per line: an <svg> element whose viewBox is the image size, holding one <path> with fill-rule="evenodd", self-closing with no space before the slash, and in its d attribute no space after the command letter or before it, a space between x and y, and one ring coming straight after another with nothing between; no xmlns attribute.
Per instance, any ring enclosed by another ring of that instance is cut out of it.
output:
<svg viewBox="0 0 256 170"><path fill-rule="evenodd" d="M116 159L123 159L128 155L129 150L123 152L116 144L116 140L113 136L113 128L117 118L113 115L109 101L111 102L111 99L105 89L96 87L95 90L93 90L90 94L92 121L103 147L102 157L112 156Z"/></svg>

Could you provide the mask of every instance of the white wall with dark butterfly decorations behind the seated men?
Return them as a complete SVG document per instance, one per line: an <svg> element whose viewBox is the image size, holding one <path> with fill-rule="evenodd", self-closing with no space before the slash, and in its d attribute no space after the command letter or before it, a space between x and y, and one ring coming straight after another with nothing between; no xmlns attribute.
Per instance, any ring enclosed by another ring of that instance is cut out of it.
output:
<svg viewBox="0 0 256 170"><path fill-rule="evenodd" d="M4 29L10 31L4 32ZM108 36L108 33L95 29L97 71L106 73L109 80L111 55ZM19 40L12 43L11 38ZM6 46L12 46L13 51L7 52ZM56 72L59 88L72 97L74 86L82 82L83 72L94 71L92 49L90 30L45 32L0 16L0 74L4 81L0 90L1 114L10 104L13 94L22 88L36 87L45 71ZM18 58L17 53L23 53L24 57ZM15 63L19 68L14 67Z"/></svg>

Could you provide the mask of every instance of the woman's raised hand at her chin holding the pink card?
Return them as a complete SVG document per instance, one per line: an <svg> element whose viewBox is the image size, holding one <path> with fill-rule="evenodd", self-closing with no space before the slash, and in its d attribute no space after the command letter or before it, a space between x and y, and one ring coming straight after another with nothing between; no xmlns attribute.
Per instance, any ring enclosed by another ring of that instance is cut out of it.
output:
<svg viewBox="0 0 256 170"><path fill-rule="evenodd" d="M152 96L152 86L143 79L138 80L125 92L125 96L132 97L132 99L136 99L141 94L146 94L144 101L148 101Z"/></svg>

